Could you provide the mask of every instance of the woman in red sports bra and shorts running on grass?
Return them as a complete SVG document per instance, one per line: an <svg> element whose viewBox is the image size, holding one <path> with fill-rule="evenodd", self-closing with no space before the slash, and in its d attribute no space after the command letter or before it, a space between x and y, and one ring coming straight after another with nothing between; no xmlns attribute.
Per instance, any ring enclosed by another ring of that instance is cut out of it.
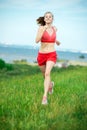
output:
<svg viewBox="0 0 87 130"><path fill-rule="evenodd" d="M44 94L42 104L47 104L48 92L52 94L54 82L51 81L50 73L57 60L54 44L60 45L56 40L56 27L52 26L53 14L46 12L43 17L37 19L39 29L36 36L36 43L41 42L37 56L37 62L44 76Z"/></svg>

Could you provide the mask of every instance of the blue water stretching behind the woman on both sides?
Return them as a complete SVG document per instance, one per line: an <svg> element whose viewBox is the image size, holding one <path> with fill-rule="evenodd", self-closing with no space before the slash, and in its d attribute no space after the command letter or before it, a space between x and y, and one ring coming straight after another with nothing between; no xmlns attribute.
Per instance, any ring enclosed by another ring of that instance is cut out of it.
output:
<svg viewBox="0 0 87 130"><path fill-rule="evenodd" d="M14 60L27 60L33 63L37 60L38 48L33 47L18 47L18 46L0 46L0 58L7 63L12 63ZM76 60L87 62L87 53L59 51L57 50L58 59ZM79 58L84 55L85 58Z"/></svg>

